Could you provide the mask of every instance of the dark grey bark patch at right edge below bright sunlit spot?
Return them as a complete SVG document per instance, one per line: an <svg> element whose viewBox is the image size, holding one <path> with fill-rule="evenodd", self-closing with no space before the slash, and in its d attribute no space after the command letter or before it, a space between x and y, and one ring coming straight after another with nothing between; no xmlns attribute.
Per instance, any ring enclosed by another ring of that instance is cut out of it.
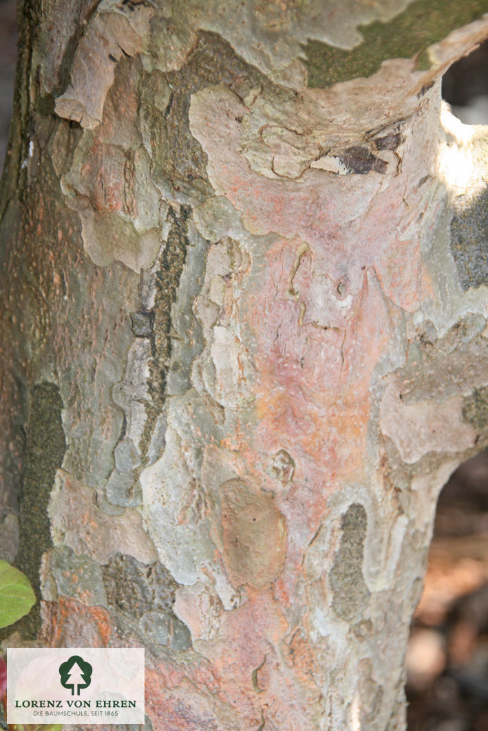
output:
<svg viewBox="0 0 488 731"><path fill-rule="evenodd" d="M454 201L451 252L464 291L488 284L488 190Z"/></svg>

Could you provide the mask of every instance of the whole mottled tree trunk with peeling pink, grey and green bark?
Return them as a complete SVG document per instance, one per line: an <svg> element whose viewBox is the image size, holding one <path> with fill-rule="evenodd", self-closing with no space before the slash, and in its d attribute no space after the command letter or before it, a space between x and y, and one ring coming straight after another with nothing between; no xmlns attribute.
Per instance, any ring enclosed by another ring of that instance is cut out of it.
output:
<svg viewBox="0 0 488 731"><path fill-rule="evenodd" d="M1 199L6 644L146 647L154 731L405 728L487 443L466 0L26 0Z"/></svg>

